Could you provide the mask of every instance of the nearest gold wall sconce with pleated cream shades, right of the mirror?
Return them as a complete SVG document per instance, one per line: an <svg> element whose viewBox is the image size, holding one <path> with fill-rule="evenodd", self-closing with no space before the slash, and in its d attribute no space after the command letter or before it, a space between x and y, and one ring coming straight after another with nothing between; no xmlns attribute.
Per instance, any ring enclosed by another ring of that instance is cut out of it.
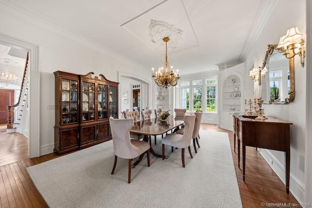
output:
<svg viewBox="0 0 312 208"><path fill-rule="evenodd" d="M302 34L297 27L292 27L287 30L286 36L279 39L277 48L283 48L284 55L287 58L292 58L295 55L299 55L301 66L304 67L304 58L306 52L304 50L304 39L301 38ZM300 42L295 42L296 39L301 38Z"/></svg>

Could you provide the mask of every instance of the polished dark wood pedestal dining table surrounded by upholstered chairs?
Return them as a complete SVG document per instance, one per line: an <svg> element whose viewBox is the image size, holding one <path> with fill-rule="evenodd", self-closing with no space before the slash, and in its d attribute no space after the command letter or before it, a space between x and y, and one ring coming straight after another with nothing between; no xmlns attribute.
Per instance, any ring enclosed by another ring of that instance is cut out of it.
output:
<svg viewBox="0 0 312 208"><path fill-rule="evenodd" d="M152 147L150 136L162 135L168 131L174 130L176 132L179 126L184 124L183 116L169 115L166 121L161 121L159 118L151 118L148 120L138 120L134 122L134 126L130 130L131 133L143 134L143 141L150 142L150 153L155 157L161 157L157 154ZM144 154L141 154L137 161L133 164L136 166L143 158Z"/></svg>

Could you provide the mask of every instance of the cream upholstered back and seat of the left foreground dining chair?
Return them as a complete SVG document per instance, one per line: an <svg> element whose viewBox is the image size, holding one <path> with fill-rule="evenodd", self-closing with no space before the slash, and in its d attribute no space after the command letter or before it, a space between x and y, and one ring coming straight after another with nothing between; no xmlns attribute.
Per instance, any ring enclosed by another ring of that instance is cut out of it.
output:
<svg viewBox="0 0 312 208"><path fill-rule="evenodd" d="M115 119L109 117L111 127L114 154L117 157L132 159L139 155L140 148L134 146L130 142L130 129L133 127L133 119Z"/></svg>

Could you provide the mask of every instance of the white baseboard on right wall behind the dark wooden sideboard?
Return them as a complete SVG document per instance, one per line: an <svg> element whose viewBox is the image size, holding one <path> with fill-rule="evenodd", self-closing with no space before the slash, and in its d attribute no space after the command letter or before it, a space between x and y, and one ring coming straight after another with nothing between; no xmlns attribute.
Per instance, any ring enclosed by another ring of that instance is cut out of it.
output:
<svg viewBox="0 0 312 208"><path fill-rule="evenodd" d="M267 161L267 163L271 166L271 168L274 170L277 176L281 179L281 181L284 184L286 184L284 164L278 161L271 151L261 148L258 148L258 151L260 152L262 157ZM273 165L270 163L270 159L273 161ZM293 176L292 173L290 173L289 190L292 192L292 195L298 200L299 203L305 201L305 185L302 184L298 180L298 178Z"/></svg>

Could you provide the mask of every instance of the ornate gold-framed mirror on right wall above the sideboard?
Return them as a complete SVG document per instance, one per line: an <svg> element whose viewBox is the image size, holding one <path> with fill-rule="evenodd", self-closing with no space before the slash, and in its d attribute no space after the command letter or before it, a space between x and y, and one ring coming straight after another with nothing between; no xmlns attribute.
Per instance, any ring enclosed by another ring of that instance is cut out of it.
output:
<svg viewBox="0 0 312 208"><path fill-rule="evenodd" d="M294 99L294 60L286 58L283 50L277 45L268 45L262 69L268 70L261 85L265 88L262 94L264 104L287 104Z"/></svg>

